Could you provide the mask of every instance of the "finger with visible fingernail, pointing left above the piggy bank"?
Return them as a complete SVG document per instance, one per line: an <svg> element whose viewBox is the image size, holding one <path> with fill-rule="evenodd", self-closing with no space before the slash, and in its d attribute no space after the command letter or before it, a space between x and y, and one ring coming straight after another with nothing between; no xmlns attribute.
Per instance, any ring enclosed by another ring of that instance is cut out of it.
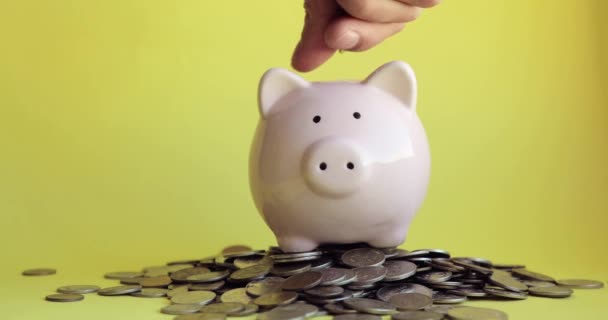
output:
<svg viewBox="0 0 608 320"><path fill-rule="evenodd" d="M351 17L339 18L325 31L325 43L336 50L365 51L398 33L404 23L373 23ZM358 41L350 42L349 35L356 34Z"/></svg>

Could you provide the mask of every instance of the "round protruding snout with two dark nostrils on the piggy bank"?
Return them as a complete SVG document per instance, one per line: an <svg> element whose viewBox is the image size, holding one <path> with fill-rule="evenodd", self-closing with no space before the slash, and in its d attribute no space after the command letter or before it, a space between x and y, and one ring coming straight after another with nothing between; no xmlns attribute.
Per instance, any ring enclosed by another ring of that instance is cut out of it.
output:
<svg viewBox="0 0 608 320"><path fill-rule="evenodd" d="M325 138L304 154L302 174L314 193L332 198L348 196L370 175L365 151L351 140Z"/></svg>

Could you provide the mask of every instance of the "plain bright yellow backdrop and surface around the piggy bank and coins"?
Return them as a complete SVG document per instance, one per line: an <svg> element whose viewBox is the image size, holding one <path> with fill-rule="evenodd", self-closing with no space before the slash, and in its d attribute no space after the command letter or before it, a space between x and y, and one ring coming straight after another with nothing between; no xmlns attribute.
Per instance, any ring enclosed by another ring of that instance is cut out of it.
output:
<svg viewBox="0 0 608 320"><path fill-rule="evenodd" d="M431 142L406 248L608 280L605 1L450 1L310 80L414 67ZM170 319L162 302L65 284L274 239L247 183L256 86L289 65L301 1L0 0L2 319ZM603 70L603 71L602 71ZM59 274L24 278L32 267ZM482 303L512 319L600 319L608 290Z"/></svg>

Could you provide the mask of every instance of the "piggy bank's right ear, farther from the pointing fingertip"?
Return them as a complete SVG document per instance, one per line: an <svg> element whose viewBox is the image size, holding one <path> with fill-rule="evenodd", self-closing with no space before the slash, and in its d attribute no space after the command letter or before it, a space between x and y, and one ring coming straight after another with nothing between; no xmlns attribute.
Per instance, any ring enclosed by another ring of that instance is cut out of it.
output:
<svg viewBox="0 0 608 320"><path fill-rule="evenodd" d="M376 69L363 83L392 94L412 111L416 111L416 76L407 63L389 62Z"/></svg>

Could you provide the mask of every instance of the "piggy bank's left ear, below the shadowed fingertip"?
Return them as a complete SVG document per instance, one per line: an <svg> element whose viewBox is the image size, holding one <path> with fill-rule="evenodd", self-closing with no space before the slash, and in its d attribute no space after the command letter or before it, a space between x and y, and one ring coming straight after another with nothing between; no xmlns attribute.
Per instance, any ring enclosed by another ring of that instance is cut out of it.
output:
<svg viewBox="0 0 608 320"><path fill-rule="evenodd" d="M260 115L266 118L279 99L298 88L308 87L310 83L285 69L273 68L262 76L258 88Z"/></svg>

